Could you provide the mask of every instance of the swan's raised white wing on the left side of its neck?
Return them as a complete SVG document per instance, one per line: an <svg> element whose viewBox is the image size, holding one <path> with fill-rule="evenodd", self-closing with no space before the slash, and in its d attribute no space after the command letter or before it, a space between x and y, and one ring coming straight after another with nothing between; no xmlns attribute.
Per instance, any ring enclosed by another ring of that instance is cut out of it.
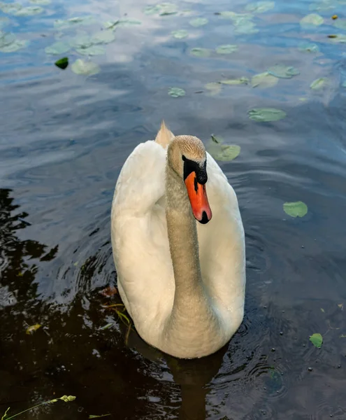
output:
<svg viewBox="0 0 346 420"><path fill-rule="evenodd" d="M173 304L165 166L166 150L160 144L147 141L137 146L122 167L112 205L111 237L118 288L142 336L162 330L161 322ZM152 339L147 337L147 341Z"/></svg>

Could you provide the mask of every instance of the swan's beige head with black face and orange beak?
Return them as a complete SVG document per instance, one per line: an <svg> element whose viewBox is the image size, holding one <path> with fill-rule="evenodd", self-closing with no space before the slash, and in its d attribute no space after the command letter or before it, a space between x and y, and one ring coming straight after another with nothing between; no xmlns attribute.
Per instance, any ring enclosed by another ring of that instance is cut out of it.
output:
<svg viewBox="0 0 346 420"><path fill-rule="evenodd" d="M168 147L168 161L185 183L196 221L208 223L212 211L206 192L207 155L203 143L193 136L175 137Z"/></svg>

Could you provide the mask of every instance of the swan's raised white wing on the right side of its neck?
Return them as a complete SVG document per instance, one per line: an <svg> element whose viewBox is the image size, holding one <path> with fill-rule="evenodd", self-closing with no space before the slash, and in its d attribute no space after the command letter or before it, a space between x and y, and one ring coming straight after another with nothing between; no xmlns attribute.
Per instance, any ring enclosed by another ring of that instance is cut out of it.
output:
<svg viewBox="0 0 346 420"><path fill-rule="evenodd" d="M212 219L197 223L203 282L229 328L243 319L245 294L245 235L238 200L222 169L208 154L206 190ZM234 331L233 331L234 332Z"/></svg>

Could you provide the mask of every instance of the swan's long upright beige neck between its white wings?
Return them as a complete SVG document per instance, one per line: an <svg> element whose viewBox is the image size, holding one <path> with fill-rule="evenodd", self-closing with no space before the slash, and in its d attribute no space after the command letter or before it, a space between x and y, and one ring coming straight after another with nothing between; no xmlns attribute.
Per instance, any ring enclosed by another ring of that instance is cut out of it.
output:
<svg viewBox="0 0 346 420"><path fill-rule="evenodd" d="M175 279L174 307L203 293L196 220L182 179L167 165L166 219Z"/></svg>

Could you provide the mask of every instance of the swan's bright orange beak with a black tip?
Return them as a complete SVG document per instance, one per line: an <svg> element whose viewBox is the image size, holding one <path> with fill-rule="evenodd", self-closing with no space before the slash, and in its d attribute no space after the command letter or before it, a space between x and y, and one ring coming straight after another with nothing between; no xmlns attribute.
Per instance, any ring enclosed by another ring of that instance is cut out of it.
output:
<svg viewBox="0 0 346 420"><path fill-rule="evenodd" d="M194 217L199 223L208 223L212 218L212 212L208 202L206 184L197 182L196 172L191 172L185 179L185 186Z"/></svg>

